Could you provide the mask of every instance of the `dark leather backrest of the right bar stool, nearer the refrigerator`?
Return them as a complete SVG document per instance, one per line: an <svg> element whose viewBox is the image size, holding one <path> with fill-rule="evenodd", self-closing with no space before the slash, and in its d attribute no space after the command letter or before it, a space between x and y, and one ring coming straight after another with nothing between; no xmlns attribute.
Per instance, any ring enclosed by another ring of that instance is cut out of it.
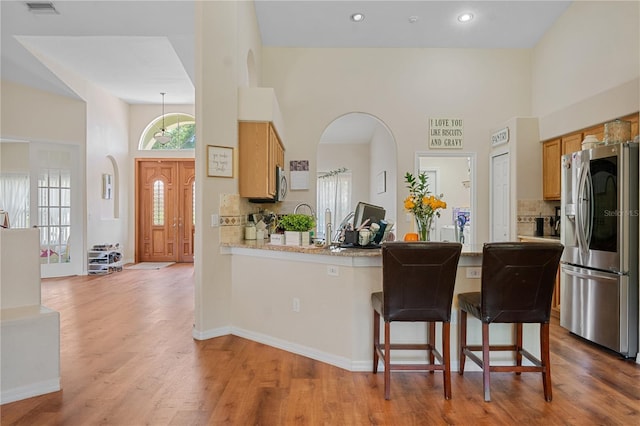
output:
<svg viewBox="0 0 640 426"><path fill-rule="evenodd" d="M557 243L486 243L481 320L548 323L563 249Z"/></svg>

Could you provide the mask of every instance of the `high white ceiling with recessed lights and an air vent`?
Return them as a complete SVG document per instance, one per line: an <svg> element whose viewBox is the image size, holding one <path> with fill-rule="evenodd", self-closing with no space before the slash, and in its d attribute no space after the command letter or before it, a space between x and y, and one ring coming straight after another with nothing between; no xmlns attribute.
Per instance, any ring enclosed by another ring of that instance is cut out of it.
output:
<svg viewBox="0 0 640 426"><path fill-rule="evenodd" d="M570 3L258 0L256 13L265 46L530 48ZM131 104L158 104L160 92L194 102L194 1L53 5L36 14L25 0L0 2L2 79L77 97L56 64ZM350 20L356 12L362 22ZM460 24L462 12L475 19Z"/></svg>

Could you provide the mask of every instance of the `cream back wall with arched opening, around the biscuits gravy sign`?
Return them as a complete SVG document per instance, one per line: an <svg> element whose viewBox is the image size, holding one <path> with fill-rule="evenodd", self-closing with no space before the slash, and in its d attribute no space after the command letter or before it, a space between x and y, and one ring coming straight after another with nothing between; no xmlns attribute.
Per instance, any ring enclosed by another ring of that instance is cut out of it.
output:
<svg viewBox="0 0 640 426"><path fill-rule="evenodd" d="M429 117L464 119L464 150L478 152L479 197L488 194L490 129L530 106L528 50L263 48L263 84L274 87L287 123L287 157L314 158L336 117L365 112L397 143L397 173L414 171L427 149ZM315 172L316 164L310 164ZM406 191L396 181L396 205ZM309 200L315 194L310 191ZM488 205L478 208L479 241L488 240ZM408 230L400 221L398 235Z"/></svg>

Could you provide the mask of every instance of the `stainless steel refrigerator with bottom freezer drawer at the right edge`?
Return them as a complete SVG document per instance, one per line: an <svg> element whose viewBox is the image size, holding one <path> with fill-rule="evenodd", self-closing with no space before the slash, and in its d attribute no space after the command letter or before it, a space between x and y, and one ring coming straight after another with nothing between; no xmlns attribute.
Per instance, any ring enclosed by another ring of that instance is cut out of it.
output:
<svg viewBox="0 0 640 426"><path fill-rule="evenodd" d="M638 352L638 144L562 157L560 325Z"/></svg>

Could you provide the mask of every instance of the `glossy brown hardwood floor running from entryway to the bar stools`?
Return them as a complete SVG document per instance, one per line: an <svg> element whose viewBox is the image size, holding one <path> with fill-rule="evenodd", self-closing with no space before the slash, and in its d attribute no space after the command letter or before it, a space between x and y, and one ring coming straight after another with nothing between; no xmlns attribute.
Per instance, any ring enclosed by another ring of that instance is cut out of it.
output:
<svg viewBox="0 0 640 426"><path fill-rule="evenodd" d="M351 373L236 336L191 337L193 268L45 279L61 314L62 388L1 407L7 425L637 425L640 365L551 327L539 374Z"/></svg>

